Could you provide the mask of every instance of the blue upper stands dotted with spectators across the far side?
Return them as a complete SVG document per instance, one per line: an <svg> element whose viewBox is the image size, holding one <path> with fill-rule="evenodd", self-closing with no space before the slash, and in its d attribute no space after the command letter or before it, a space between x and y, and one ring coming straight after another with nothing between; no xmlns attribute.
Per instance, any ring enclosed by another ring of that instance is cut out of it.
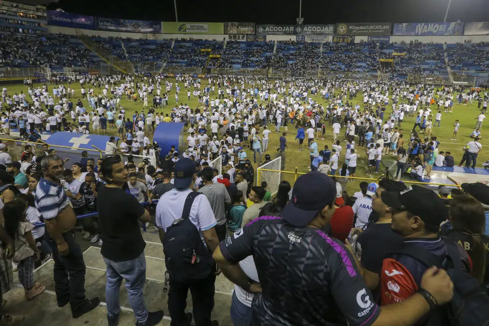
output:
<svg viewBox="0 0 489 326"><path fill-rule="evenodd" d="M489 43L308 43L297 41L146 40L91 37L109 53L133 63L155 67L217 67L285 69L292 76L307 71L384 72L447 75L452 70L486 71ZM445 45L445 46L444 46ZM209 59L209 55L212 60ZM446 61L445 61L446 55ZM382 65L380 59L392 59ZM0 34L0 64L11 67L98 66L101 59L76 36L26 37Z"/></svg>

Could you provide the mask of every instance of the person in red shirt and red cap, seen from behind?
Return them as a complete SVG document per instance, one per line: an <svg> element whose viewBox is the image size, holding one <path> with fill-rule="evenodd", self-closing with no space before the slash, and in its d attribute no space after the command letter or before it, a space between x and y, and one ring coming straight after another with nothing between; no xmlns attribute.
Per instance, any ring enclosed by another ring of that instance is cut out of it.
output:
<svg viewBox="0 0 489 326"><path fill-rule="evenodd" d="M348 198L348 194L345 193L345 196ZM345 205L345 199L339 183L336 183L336 201L334 203L338 208L336 208L331 218L331 232L329 234L333 238L345 243L345 239L348 238L350 230L353 227L354 213L352 206Z"/></svg>

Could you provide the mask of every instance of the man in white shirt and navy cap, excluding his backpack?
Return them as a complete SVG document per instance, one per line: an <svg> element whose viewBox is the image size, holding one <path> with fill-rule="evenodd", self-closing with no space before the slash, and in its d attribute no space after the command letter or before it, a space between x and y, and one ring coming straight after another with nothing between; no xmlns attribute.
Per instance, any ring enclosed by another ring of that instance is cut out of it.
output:
<svg viewBox="0 0 489 326"><path fill-rule="evenodd" d="M163 243L165 232L172 223L181 218L187 196L192 193L197 170L189 158L182 158L175 164L175 189L168 191L159 198L156 205L156 227ZM224 186L223 186L224 187ZM224 189L224 191L226 191ZM229 196L229 195L228 195ZM212 252L219 245L216 234L216 217L206 196L196 196L192 202L189 220L197 227L200 239ZM224 224L225 225L225 224ZM214 308L214 283L216 275L211 272L203 280L195 283L180 284L172 280L170 274L170 292L168 293L168 310L172 325L189 325L185 314L187 292L192 292L192 303L196 325L211 325L211 312Z"/></svg>

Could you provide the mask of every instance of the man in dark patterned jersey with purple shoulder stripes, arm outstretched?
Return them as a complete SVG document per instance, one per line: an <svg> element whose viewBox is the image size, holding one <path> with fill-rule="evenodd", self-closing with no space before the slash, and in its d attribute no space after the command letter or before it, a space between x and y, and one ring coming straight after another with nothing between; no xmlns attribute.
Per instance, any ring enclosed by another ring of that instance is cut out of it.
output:
<svg viewBox="0 0 489 326"><path fill-rule="evenodd" d="M413 325L429 311L421 294L404 303L377 306L352 255L341 241L321 231L334 214L335 200L331 177L301 175L281 217L258 217L216 249L214 259L223 274L257 293L250 325ZM261 284L250 282L239 266L250 255ZM422 288L444 304L451 300L453 284L445 271L435 272L426 273Z"/></svg>

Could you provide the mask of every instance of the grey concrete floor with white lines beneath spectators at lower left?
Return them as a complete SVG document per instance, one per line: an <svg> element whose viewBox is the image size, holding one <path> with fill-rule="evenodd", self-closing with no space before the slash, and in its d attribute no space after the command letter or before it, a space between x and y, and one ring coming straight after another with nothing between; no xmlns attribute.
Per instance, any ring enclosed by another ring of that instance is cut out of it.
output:
<svg viewBox="0 0 489 326"><path fill-rule="evenodd" d="M160 326L169 326L170 317L168 313L168 296L163 292L165 262L163 249L155 233L143 232L146 241L146 285L144 297L148 310L155 311L163 309L165 317ZM4 295L8 300L5 311L10 314L23 314L25 320L22 326L106 326L107 309L105 307L105 263L100 255L100 247L92 246L90 241L82 239L76 234L77 242L84 250L84 259L87 266L85 290L88 298L98 296L102 303L96 309L83 315L78 319L71 318L69 305L58 308L54 293L54 281L52 266L53 261L48 261L34 272L34 280L46 286L46 291L36 299L27 302L24 299L22 285L17 281L17 273L14 273L14 289ZM216 279L216 294L214 296L215 306L212 318L219 321L221 326L232 326L229 318L231 295L234 286L222 274ZM135 325L133 311L128 302L127 291L124 283L120 292L121 315L120 326ZM190 293L187 298L187 312L192 312L192 300Z"/></svg>

